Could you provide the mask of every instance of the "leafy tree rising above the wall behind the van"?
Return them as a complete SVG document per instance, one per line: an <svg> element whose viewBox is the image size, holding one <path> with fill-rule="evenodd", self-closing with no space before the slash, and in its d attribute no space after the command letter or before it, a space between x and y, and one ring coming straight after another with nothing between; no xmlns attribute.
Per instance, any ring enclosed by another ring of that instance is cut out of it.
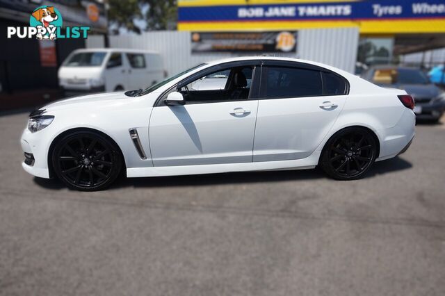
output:
<svg viewBox="0 0 445 296"><path fill-rule="evenodd" d="M176 0L108 0L108 4L109 27L114 27L116 31L119 28L136 33L141 30L166 30L177 19ZM136 19L143 19L145 28L136 26Z"/></svg>

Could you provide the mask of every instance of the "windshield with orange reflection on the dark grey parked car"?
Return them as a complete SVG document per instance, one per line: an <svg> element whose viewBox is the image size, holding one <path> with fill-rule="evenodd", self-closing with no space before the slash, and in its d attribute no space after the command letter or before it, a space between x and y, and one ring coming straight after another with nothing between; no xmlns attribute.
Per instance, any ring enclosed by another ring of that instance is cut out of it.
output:
<svg viewBox="0 0 445 296"><path fill-rule="evenodd" d="M428 76L419 69L377 69L374 83L380 84L428 84Z"/></svg>

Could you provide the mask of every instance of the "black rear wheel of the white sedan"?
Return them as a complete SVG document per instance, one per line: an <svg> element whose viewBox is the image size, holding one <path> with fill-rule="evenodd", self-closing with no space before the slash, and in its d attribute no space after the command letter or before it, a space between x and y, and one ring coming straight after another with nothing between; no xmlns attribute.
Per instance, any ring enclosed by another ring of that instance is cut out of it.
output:
<svg viewBox="0 0 445 296"><path fill-rule="evenodd" d="M337 180L360 179L374 163L377 151L377 142L370 131L359 127L346 128L327 141L320 166Z"/></svg>

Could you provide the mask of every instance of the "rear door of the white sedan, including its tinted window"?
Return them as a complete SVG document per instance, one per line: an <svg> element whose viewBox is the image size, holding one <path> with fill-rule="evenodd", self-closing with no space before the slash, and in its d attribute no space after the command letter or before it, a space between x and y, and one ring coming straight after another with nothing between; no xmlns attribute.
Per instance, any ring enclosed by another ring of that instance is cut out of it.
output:
<svg viewBox="0 0 445 296"><path fill-rule="evenodd" d="M254 161L305 158L320 145L348 93L343 77L303 63L265 61Z"/></svg>

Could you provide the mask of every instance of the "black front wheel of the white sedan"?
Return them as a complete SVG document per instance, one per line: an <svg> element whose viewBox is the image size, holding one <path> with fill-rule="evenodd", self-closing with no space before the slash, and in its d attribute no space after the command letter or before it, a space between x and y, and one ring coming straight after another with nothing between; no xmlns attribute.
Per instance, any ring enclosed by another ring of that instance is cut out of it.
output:
<svg viewBox="0 0 445 296"><path fill-rule="evenodd" d="M122 169L118 147L104 135L75 131L61 138L52 154L54 172L69 188L102 190L115 181Z"/></svg>

